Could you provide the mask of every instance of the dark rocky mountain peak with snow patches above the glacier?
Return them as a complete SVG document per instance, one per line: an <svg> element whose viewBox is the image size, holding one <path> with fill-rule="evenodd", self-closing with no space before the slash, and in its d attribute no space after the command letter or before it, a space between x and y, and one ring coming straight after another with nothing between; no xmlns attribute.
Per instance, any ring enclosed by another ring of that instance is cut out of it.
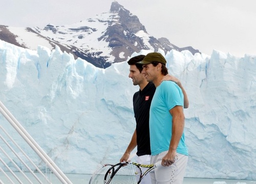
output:
<svg viewBox="0 0 256 184"><path fill-rule="evenodd" d="M166 38L155 38L146 32L139 18L113 2L110 11L72 25L46 25L40 28L16 28L0 25L0 39L24 48L37 49L37 45L50 50L58 45L99 68L123 62L134 52L144 50L167 51L172 49L199 52L191 46L179 48Z"/></svg>

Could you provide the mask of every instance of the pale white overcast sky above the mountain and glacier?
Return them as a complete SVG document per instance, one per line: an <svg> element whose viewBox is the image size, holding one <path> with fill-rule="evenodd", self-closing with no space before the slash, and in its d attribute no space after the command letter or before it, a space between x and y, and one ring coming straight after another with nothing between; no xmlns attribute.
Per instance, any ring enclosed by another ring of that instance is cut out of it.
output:
<svg viewBox="0 0 256 184"><path fill-rule="evenodd" d="M108 12L114 0L0 0L0 24L44 28ZM178 47L238 57L256 55L255 0L117 0L138 16L148 34Z"/></svg>

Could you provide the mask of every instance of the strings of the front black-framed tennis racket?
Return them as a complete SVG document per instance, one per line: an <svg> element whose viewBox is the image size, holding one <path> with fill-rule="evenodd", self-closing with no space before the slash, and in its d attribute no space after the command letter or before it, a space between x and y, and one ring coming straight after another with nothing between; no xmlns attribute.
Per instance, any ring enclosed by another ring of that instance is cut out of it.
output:
<svg viewBox="0 0 256 184"><path fill-rule="evenodd" d="M119 169L115 168L115 170L116 169L117 171L109 182L110 184L137 184L141 177L140 168L132 163L124 164Z"/></svg>

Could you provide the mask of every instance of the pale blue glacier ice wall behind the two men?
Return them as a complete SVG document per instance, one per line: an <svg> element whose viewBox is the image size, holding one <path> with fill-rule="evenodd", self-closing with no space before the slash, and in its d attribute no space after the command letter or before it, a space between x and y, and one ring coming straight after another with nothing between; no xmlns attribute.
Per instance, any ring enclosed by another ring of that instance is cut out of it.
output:
<svg viewBox="0 0 256 184"><path fill-rule="evenodd" d="M186 177L255 180L256 57L173 49L165 58L189 98ZM138 86L128 74L126 62L102 69L58 46L30 50L0 40L0 100L65 173L119 161L135 128ZM23 146L2 115L0 122Z"/></svg>

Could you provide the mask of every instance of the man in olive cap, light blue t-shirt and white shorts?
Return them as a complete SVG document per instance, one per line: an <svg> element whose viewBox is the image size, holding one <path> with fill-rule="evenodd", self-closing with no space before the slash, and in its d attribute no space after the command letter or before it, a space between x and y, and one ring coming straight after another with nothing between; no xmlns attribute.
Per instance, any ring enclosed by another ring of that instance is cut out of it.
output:
<svg viewBox="0 0 256 184"><path fill-rule="evenodd" d="M156 86L150 108L151 163L161 162L162 166L151 173L152 183L181 184L188 159L182 90L172 81L161 82L168 72L160 53L151 52L138 64L142 64L146 80Z"/></svg>

